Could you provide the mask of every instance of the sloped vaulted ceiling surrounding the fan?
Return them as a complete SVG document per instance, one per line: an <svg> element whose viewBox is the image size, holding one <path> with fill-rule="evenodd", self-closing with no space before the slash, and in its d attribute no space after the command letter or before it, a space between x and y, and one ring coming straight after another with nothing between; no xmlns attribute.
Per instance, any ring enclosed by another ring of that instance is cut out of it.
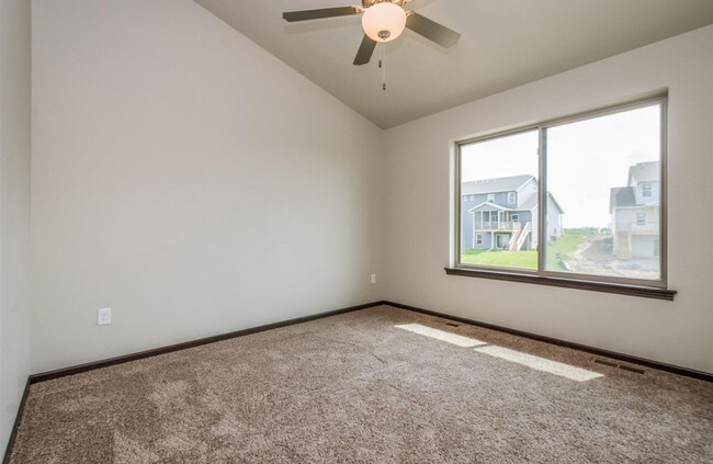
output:
<svg viewBox="0 0 713 464"><path fill-rule="evenodd" d="M407 30L386 45L383 92L377 59L352 65L361 16L282 20L358 1L195 1L383 128L713 23L713 0L415 0L407 9L461 42L444 49Z"/></svg>

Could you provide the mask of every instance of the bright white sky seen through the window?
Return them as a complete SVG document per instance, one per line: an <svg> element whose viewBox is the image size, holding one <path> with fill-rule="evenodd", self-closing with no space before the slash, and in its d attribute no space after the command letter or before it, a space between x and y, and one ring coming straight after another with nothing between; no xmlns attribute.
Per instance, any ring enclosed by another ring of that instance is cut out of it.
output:
<svg viewBox="0 0 713 464"><path fill-rule="evenodd" d="M547 129L547 190L565 211L563 225L609 227L609 195L625 186L629 167L660 159L660 105ZM537 132L462 147L463 181L537 177Z"/></svg>

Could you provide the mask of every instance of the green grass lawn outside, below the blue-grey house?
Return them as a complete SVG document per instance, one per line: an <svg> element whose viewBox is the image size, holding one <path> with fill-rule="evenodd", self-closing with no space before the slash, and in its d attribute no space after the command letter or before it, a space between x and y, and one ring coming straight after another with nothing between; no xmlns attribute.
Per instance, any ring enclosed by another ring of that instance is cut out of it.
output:
<svg viewBox="0 0 713 464"><path fill-rule="evenodd" d="M550 262L550 268L552 269L557 265L557 253L561 254L563 261L568 261L571 253L577 249L586 236L587 234L580 231L565 233L554 244L550 245L547 247L547 261ZM511 253L508 251L465 250L461 256L461 261L466 264L537 269L537 251L528 250Z"/></svg>

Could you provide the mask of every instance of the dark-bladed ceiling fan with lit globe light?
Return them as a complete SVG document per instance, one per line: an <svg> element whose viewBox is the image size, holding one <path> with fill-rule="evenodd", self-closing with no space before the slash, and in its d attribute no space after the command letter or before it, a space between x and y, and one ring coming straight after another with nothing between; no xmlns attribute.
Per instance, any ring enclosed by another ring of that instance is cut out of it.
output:
<svg viewBox="0 0 713 464"><path fill-rule="evenodd" d="M406 10L406 3L414 0L362 0L354 7L322 8L318 10L286 11L282 18L288 22L318 20L322 18L362 14L362 39L354 65L365 65L371 60L377 43L391 42L398 37L405 27L421 34L443 47L459 42L461 34L452 31L414 11Z"/></svg>

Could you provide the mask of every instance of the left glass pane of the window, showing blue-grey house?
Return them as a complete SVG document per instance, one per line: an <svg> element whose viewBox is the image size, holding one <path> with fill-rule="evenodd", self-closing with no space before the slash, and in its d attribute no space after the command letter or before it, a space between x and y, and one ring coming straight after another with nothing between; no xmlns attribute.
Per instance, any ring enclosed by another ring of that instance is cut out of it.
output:
<svg viewBox="0 0 713 464"><path fill-rule="evenodd" d="M537 269L537 131L461 146L461 263ZM513 218L512 213L517 216Z"/></svg>

